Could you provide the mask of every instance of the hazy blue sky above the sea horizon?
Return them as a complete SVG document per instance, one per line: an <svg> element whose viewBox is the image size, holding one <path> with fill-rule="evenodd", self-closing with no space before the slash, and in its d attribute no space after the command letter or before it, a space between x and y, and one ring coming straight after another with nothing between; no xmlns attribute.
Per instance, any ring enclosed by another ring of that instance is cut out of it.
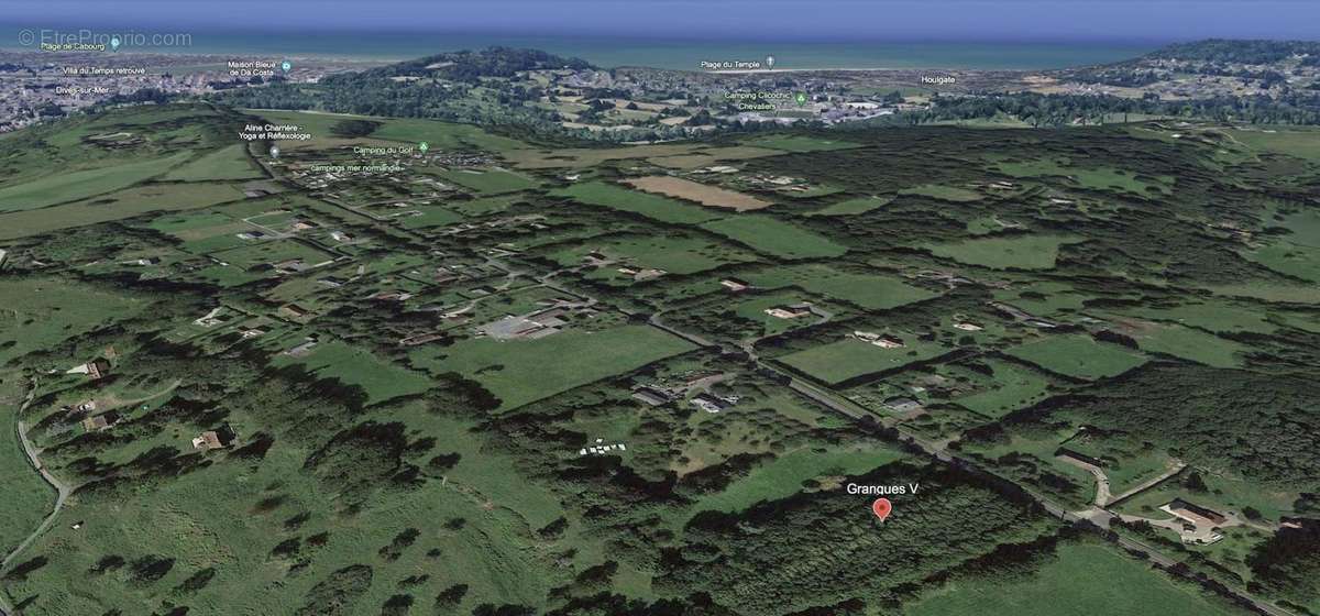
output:
<svg viewBox="0 0 1320 616"><path fill-rule="evenodd" d="M1320 38L1320 0L0 0L24 26L803 41Z"/></svg>

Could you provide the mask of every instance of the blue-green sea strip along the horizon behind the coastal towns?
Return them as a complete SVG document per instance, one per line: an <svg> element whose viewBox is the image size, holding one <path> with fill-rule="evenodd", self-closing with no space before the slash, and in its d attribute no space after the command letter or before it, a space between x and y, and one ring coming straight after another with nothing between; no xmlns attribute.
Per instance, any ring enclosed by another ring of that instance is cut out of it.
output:
<svg viewBox="0 0 1320 616"><path fill-rule="evenodd" d="M33 32L0 24L0 47L21 45ZM40 32L40 30L37 30ZM78 29L59 29L61 33ZM116 30L111 30L116 32ZM137 34L169 32L133 30ZM1158 44L1133 42L953 42L953 41L730 41L624 37L504 36L399 32L187 32L187 45L145 46L144 51L264 54L279 58L333 57L370 61L409 59L440 51L492 45L532 47L586 59L605 67L651 66L701 70L702 61L762 61L776 69L979 69L1039 70L1115 62ZM125 37L131 38L131 37ZM125 46L123 51L136 49Z"/></svg>

